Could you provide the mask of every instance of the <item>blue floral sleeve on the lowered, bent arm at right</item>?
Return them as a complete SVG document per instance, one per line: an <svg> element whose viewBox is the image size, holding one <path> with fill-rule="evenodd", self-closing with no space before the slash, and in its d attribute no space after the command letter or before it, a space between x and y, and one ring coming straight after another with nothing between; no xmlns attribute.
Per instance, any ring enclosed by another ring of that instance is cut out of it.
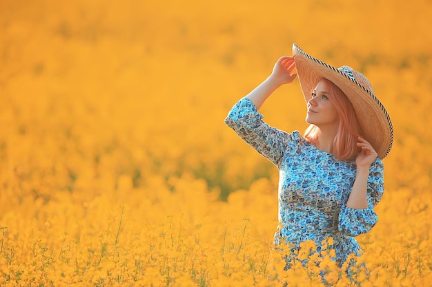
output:
<svg viewBox="0 0 432 287"><path fill-rule="evenodd" d="M367 183L368 207L365 209L351 209L346 204L342 206L339 213L339 231L349 236L357 236L370 231L378 220L373 208L380 202L382 193L384 193L384 165L377 158L369 169Z"/></svg>

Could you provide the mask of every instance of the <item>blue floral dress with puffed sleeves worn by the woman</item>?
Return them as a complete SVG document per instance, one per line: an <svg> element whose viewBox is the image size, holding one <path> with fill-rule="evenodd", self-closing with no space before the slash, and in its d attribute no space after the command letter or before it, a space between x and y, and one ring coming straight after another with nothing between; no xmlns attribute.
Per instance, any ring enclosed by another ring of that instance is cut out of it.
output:
<svg viewBox="0 0 432 287"><path fill-rule="evenodd" d="M294 131L270 127L248 98L230 110L225 123L279 169L279 226L275 244L284 238L299 248L313 240L320 251L326 237L333 237L335 261L342 264L348 255L362 252L354 236L366 233L377 222L373 207L384 192L384 167L377 158L371 164L366 209L351 209L346 201L355 180L355 160L337 160L317 149Z"/></svg>

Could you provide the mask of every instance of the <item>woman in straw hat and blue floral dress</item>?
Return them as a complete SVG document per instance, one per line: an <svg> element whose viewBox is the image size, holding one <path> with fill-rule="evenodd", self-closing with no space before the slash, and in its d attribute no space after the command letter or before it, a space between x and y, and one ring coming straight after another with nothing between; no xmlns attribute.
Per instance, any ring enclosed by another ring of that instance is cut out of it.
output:
<svg viewBox="0 0 432 287"><path fill-rule="evenodd" d="M304 136L268 126L257 110L297 74L307 104ZM373 207L384 191L382 158L393 142L386 109L369 81L351 67L331 67L293 45L266 80L239 100L225 123L279 169L279 226L275 243L320 244L333 237L340 266L360 254L355 236L377 222ZM289 268L288 260L287 268Z"/></svg>

